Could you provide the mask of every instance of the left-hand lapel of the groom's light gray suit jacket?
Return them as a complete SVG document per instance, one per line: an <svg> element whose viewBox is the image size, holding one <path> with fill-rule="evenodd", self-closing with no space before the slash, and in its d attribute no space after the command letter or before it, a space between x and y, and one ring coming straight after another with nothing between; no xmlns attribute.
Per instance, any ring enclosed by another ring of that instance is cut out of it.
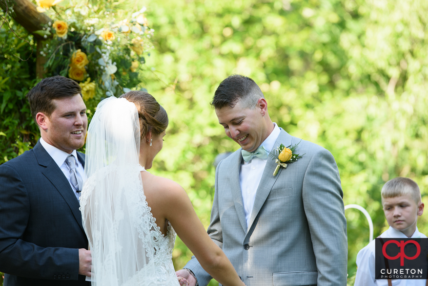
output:
<svg viewBox="0 0 428 286"><path fill-rule="evenodd" d="M239 171L241 169L241 149L234 152L231 156L232 164L229 171L231 172L230 182L233 196L233 203L235 204L236 213L238 214L239 222L241 222L242 228L246 232L247 225L245 220L244 201L242 198L241 184L239 183Z"/></svg>

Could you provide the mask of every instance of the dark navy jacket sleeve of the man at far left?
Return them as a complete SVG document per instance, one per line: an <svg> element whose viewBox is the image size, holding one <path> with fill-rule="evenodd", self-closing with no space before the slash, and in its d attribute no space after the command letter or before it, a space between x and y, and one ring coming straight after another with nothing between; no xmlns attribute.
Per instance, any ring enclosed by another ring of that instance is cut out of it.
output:
<svg viewBox="0 0 428 286"><path fill-rule="evenodd" d="M11 166L1 165L0 271L35 279L55 279L55 275L69 273L69 280L78 280L78 249L41 247L23 240L31 208L37 206L30 204L20 174Z"/></svg>

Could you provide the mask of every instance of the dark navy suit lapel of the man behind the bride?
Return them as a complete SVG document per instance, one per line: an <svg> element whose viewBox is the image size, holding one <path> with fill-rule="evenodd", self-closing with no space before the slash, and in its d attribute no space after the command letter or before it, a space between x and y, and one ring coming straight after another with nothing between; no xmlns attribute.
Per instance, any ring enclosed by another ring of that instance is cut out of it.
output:
<svg viewBox="0 0 428 286"><path fill-rule="evenodd" d="M40 142L36 144L33 148L33 152L36 155L39 165L46 167L41 173L54 185L54 187L60 192L62 198L67 202L68 206L73 213L73 216L79 223L80 227L83 230L82 226L82 214L79 210L79 201L74 195L73 189L70 186L67 178L62 173L61 169L55 163L54 159L44 150ZM82 159L82 164L84 164L84 157L78 153L79 160Z"/></svg>

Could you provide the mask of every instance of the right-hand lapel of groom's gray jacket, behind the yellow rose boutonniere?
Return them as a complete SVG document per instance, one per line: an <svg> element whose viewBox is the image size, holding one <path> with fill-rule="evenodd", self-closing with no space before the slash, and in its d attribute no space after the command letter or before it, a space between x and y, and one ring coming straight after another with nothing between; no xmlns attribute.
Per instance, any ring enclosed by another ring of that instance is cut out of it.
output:
<svg viewBox="0 0 428 286"><path fill-rule="evenodd" d="M289 135L287 132L281 129L281 132L278 138L276 139L275 145L273 146L272 150L279 147L281 144L284 144L285 147L288 147L289 145L291 145L291 138L292 138L291 135ZM248 229L250 229L251 226L253 225L254 220L257 218L257 215L259 214L260 209L265 203L265 200L269 195L270 190L273 187L273 184L275 183L277 178L281 175L282 169L284 169L284 168L280 168L278 171L278 174L276 176L273 176L273 171L275 170L276 166L277 166L277 163L275 163L275 160L272 160L272 158L268 157L265 170L263 171L262 179L260 180L259 187L257 188L256 198L254 200L254 206L251 212Z"/></svg>

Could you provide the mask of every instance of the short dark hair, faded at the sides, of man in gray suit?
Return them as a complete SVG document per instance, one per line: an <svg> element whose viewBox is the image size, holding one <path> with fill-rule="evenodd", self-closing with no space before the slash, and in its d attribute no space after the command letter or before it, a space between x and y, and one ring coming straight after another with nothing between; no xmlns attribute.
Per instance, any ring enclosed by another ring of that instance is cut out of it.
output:
<svg viewBox="0 0 428 286"><path fill-rule="evenodd" d="M214 93L211 106L216 110L226 106L233 108L239 100L243 100L246 108L253 109L260 98L265 98L265 96L252 79L234 74L220 83Z"/></svg>

